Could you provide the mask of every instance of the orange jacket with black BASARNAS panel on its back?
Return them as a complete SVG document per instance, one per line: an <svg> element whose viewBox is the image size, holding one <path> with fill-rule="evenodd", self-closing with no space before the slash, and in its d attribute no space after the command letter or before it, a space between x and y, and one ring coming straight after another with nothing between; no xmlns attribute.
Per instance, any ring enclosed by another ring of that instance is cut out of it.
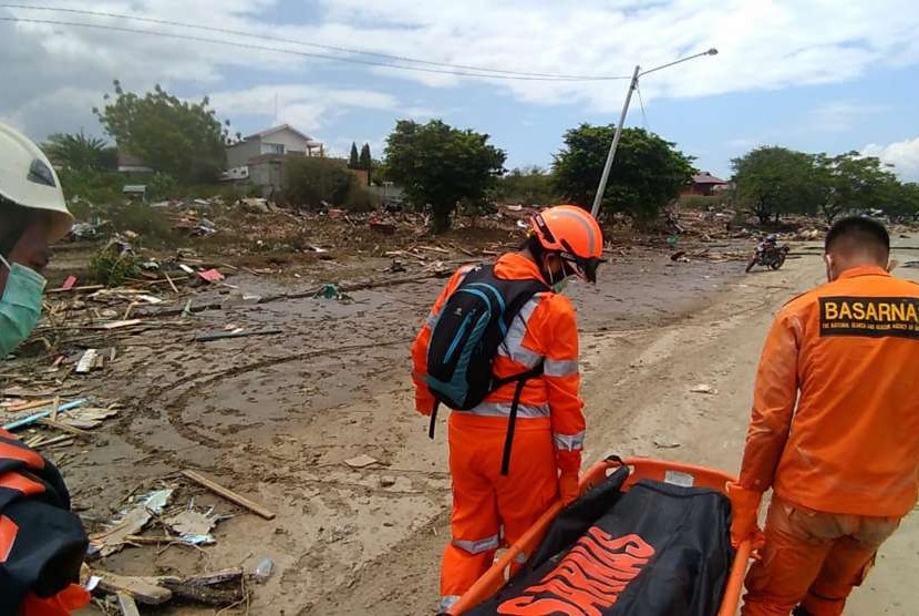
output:
<svg viewBox="0 0 919 616"><path fill-rule="evenodd" d="M906 514L917 369L919 285L858 267L795 298L760 362L741 485L822 512Z"/></svg>

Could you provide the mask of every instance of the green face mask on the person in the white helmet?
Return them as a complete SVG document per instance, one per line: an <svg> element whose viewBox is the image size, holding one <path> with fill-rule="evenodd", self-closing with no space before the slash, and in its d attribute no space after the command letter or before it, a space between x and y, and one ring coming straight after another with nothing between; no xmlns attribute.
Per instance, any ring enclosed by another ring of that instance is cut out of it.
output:
<svg viewBox="0 0 919 616"><path fill-rule="evenodd" d="M41 298L48 280L34 269L0 256L10 273L0 298L0 359L29 338L41 317Z"/></svg>

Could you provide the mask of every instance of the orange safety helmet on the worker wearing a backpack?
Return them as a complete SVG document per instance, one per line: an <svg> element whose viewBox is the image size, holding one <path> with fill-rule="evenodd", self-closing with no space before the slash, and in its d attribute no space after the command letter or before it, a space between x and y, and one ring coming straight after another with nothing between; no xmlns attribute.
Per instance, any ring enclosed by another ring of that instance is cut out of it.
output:
<svg viewBox="0 0 919 616"><path fill-rule="evenodd" d="M566 274L597 281L597 266L603 261L603 234L589 212L577 205L556 205L535 214L530 227L544 250L561 257Z"/></svg>

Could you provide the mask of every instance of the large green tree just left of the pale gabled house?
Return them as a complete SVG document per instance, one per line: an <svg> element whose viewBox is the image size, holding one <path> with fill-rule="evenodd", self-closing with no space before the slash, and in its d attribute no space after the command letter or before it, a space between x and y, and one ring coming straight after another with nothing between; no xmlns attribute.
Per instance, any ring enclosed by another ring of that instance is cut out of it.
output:
<svg viewBox="0 0 919 616"><path fill-rule="evenodd" d="M188 103L159 85L143 96L115 80L114 100L93 109L120 148L183 183L215 182L226 166L229 121L221 124L210 101Z"/></svg>

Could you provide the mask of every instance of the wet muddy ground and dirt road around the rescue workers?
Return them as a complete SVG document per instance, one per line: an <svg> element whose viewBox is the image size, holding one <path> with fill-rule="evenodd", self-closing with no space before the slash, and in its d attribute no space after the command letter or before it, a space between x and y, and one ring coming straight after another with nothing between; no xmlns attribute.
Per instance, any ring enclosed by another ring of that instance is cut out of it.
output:
<svg viewBox="0 0 919 616"><path fill-rule="evenodd" d="M807 249L777 273L744 276L742 263L673 263L662 250L632 248L615 256L596 288L570 285L582 332L586 464L619 453L735 471L766 328L784 301L822 276L817 253ZM261 296L312 285L248 275L230 281ZM63 459L87 524L103 524L130 494L157 485L178 487L176 502L194 499L235 514L217 526L216 545L128 547L97 566L127 575L190 574L251 569L270 557L271 577L252 587L248 606L227 613L433 613L450 479L444 430L430 441L425 420L412 410L409 345L442 285L431 278L358 290L351 304L308 297L151 319L149 329L118 343L117 360L103 372L72 377L72 392L125 407L89 444L51 453ZM283 333L190 342L195 332L228 324ZM690 393L699 383L717 393ZM344 464L361 453L379 464ZM175 473L186 468L266 504L277 517L261 520L182 482ZM847 614L915 614L919 593L909 581L917 555L913 516L885 547ZM215 612L177 604L156 609Z"/></svg>

